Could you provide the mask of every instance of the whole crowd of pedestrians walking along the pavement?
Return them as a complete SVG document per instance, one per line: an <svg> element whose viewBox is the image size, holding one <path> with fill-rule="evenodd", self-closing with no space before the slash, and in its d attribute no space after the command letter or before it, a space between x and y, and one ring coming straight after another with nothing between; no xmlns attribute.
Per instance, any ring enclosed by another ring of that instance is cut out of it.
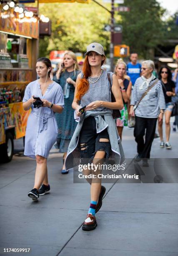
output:
<svg viewBox="0 0 178 256"><path fill-rule="evenodd" d="M167 66L161 67L157 78L154 62L140 64L138 54L133 53L128 64L118 59L113 73L103 68L105 60L103 46L98 43L87 46L80 68L75 54L65 53L56 74L51 76L50 60L38 59L39 79L28 84L23 98L24 110L32 110L24 154L36 159L35 183L28 193L34 201L50 192L47 159L54 144L63 153L62 174L78 164L102 164L108 159L122 163L123 127L131 120L138 153L135 161L149 165L157 121L160 148L171 149L170 117L178 102L178 69L172 74ZM178 127L178 116L175 123ZM100 172L98 167L96 173ZM85 170L84 174L88 173ZM101 179L87 181L91 201L82 228L92 230L97 226L95 213L102 206L105 187Z"/></svg>

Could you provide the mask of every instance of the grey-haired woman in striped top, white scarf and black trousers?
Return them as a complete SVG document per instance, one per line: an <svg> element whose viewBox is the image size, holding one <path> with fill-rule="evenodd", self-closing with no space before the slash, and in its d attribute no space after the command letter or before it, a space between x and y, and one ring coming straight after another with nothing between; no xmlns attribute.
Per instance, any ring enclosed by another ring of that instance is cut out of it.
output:
<svg viewBox="0 0 178 256"><path fill-rule="evenodd" d="M138 156L135 160L140 161L142 158L143 166L148 166L147 159L150 158L151 145L155 135L157 119L163 119L165 109L165 98L160 81L152 74L154 70L154 62L146 60L142 62L142 76L139 77L133 87L132 98L130 102L130 115L135 116L134 136L137 142ZM138 107L134 111L136 105L141 99L144 92L147 91L153 83L154 86L140 101ZM145 133L146 130L146 133ZM143 136L145 135L145 141Z"/></svg>

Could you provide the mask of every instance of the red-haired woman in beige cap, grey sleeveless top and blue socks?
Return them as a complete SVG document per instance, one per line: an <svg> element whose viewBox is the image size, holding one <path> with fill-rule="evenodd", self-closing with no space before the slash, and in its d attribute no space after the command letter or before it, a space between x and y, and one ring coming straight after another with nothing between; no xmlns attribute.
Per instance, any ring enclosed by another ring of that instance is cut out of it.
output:
<svg viewBox="0 0 178 256"><path fill-rule="evenodd" d="M72 104L76 118L79 117L80 120L68 148L67 169L74 167L72 164L76 159L79 159L80 164L103 164L103 161L107 160L112 153L115 154L116 164L120 164L124 159L123 148L112 115L113 109L123 108L118 79L114 73L108 74L106 70L101 69L106 59L101 44L88 45L85 55L83 72L77 77ZM115 102L111 102L111 85ZM95 213L102 206L105 187L101 186L101 178L98 176L101 174L100 168L94 173L89 169L83 172L96 175L96 179L87 179L91 184L91 202L82 226L83 230L93 230L97 226Z"/></svg>

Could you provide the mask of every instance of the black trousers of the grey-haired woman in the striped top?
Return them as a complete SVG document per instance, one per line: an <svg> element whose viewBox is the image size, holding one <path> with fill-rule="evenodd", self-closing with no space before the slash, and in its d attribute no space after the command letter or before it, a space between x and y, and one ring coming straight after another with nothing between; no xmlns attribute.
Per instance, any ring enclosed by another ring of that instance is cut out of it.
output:
<svg viewBox="0 0 178 256"><path fill-rule="evenodd" d="M155 136L157 118L140 118L135 116L134 137L137 152L142 158L150 158L151 145ZM145 134L146 130L146 134ZM145 142L143 136L145 135Z"/></svg>

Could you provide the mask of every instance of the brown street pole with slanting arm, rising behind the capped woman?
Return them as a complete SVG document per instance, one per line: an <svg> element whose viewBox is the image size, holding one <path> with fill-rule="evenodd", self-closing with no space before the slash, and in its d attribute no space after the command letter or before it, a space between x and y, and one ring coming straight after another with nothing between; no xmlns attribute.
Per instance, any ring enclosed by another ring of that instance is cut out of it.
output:
<svg viewBox="0 0 178 256"><path fill-rule="evenodd" d="M114 0L111 0L111 11L105 8L105 6L98 3L96 0L93 0L96 4L100 5L102 8L107 10L111 15L111 24L110 24L110 70L114 70Z"/></svg>

